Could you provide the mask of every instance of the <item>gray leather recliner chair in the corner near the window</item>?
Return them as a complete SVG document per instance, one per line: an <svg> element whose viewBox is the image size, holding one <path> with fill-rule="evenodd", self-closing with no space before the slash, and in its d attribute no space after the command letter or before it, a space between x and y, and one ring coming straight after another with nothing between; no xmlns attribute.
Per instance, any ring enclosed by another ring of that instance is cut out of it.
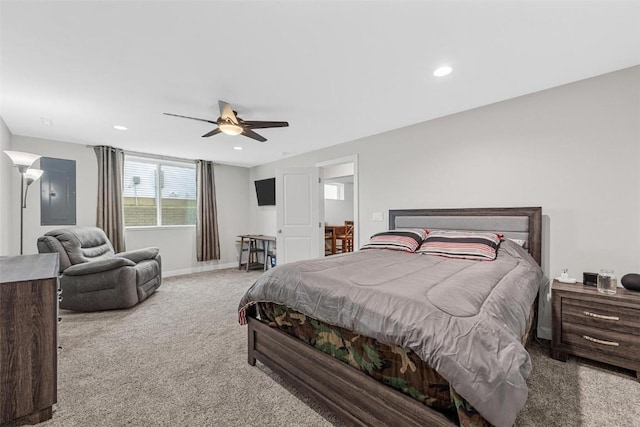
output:
<svg viewBox="0 0 640 427"><path fill-rule="evenodd" d="M71 227L38 238L38 252L60 256L60 308L98 311L129 308L160 287L158 248L116 254L102 229Z"/></svg>

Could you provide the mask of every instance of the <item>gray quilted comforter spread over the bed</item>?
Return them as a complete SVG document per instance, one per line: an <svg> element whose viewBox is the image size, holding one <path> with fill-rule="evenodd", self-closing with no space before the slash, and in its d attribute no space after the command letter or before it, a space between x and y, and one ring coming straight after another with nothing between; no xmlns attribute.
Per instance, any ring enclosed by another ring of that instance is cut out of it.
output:
<svg viewBox="0 0 640 427"><path fill-rule="evenodd" d="M416 352L482 416L510 426L527 400L521 344L542 271L503 241L495 261L389 250L279 266L240 302L287 305L320 321Z"/></svg>

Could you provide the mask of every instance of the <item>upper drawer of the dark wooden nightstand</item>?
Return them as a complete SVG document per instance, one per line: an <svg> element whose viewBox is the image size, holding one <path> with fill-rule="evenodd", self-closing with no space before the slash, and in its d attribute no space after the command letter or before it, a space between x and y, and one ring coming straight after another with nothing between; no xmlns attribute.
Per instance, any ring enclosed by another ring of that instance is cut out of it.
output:
<svg viewBox="0 0 640 427"><path fill-rule="evenodd" d="M606 303L562 299L562 323L577 323L640 336L640 311Z"/></svg>

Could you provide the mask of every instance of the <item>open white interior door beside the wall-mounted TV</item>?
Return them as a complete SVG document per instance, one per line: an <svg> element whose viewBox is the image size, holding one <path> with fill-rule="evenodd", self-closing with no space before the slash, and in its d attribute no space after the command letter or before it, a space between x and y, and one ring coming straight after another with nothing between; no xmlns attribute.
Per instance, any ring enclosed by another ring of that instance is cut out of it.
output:
<svg viewBox="0 0 640 427"><path fill-rule="evenodd" d="M278 264L324 255L321 185L316 167L276 169Z"/></svg>

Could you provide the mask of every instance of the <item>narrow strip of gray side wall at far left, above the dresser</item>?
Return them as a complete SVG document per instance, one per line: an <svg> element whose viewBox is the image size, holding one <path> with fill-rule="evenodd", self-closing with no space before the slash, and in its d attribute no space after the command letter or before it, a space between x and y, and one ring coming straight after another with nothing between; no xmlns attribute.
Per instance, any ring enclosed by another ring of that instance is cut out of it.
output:
<svg viewBox="0 0 640 427"><path fill-rule="evenodd" d="M12 212L20 209L18 200L20 196L16 196L15 200L13 197L20 190L18 187L14 193L12 174L18 175L18 172L11 166L9 157L2 153L4 150L11 150L11 132L0 117L0 256L17 255L20 252L18 245L11 245L13 241Z"/></svg>

